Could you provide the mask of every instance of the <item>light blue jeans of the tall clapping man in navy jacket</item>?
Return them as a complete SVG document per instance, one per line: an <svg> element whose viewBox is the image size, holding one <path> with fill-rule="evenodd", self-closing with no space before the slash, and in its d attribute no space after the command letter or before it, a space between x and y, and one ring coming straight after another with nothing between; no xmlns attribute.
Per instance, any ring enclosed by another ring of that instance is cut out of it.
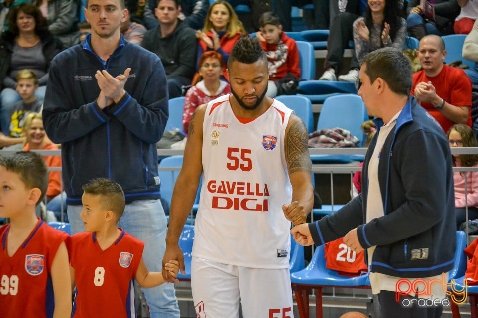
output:
<svg viewBox="0 0 478 318"><path fill-rule="evenodd" d="M80 218L82 206L69 205L68 218L72 233L85 231ZM161 262L166 249L166 216L161 201L138 200L126 205L118 221L124 231L145 243L144 263L150 271L161 271ZM174 285L164 283L154 288L144 288L151 318L179 318L179 306Z"/></svg>

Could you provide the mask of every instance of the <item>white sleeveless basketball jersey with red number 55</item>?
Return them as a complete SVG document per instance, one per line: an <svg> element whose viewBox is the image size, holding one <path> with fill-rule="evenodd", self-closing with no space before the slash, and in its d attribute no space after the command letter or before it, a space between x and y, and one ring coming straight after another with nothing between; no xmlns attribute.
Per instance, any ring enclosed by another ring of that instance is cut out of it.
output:
<svg viewBox="0 0 478 318"><path fill-rule="evenodd" d="M292 110L277 100L259 117L235 116L229 96L208 103L193 256L235 266L288 268L290 204L284 135Z"/></svg>

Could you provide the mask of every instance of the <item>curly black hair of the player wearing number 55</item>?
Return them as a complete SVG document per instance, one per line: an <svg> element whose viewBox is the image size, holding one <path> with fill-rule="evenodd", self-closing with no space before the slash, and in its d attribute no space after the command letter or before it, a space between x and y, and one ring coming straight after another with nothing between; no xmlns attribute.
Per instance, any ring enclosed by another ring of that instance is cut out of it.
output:
<svg viewBox="0 0 478 318"><path fill-rule="evenodd" d="M234 61L252 64L259 60L262 60L267 65L267 57L260 46L259 40L257 38L241 37L229 54L228 68L231 67Z"/></svg>

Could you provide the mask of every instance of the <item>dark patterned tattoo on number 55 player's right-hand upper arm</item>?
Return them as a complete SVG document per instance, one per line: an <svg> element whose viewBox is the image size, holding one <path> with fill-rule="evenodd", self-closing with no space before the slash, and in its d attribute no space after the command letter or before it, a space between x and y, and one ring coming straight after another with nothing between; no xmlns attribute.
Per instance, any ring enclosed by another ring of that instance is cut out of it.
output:
<svg viewBox="0 0 478 318"><path fill-rule="evenodd" d="M312 170L308 141L307 128L301 120L290 126L285 138L285 158L289 165L289 174Z"/></svg>

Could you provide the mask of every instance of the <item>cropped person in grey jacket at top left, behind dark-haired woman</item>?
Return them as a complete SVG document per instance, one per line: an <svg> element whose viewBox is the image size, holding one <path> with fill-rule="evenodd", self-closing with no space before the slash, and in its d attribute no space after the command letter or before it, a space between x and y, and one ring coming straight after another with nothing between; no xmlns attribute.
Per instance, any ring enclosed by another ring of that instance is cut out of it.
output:
<svg viewBox="0 0 478 318"><path fill-rule="evenodd" d="M77 43L78 0L31 0L48 24L48 31L57 37L63 47Z"/></svg>

